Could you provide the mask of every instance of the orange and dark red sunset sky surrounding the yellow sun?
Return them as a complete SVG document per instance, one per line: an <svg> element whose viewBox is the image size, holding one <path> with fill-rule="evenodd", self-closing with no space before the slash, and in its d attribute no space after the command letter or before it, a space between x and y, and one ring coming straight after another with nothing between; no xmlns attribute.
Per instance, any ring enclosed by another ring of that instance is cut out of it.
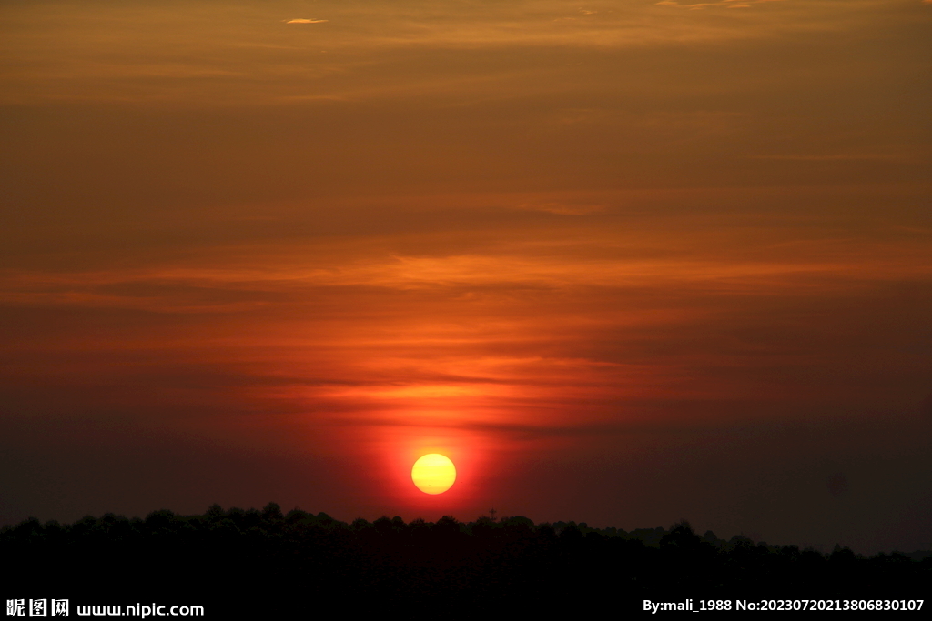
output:
<svg viewBox="0 0 932 621"><path fill-rule="evenodd" d="M0 523L494 507L927 549L930 27L6 0Z"/></svg>

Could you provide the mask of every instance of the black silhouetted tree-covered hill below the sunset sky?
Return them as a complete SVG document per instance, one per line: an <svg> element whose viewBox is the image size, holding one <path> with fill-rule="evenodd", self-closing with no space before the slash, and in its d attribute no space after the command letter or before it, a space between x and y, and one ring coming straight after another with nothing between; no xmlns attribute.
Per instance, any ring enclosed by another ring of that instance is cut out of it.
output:
<svg viewBox="0 0 932 621"><path fill-rule="evenodd" d="M282 515L274 503L145 520L26 520L0 531L0 560L4 599L198 604L212 618L334 606L410 618L606 605L623 614L644 600L922 599L932 584L928 556L726 542L686 522L632 533L521 517L348 524L297 509Z"/></svg>

